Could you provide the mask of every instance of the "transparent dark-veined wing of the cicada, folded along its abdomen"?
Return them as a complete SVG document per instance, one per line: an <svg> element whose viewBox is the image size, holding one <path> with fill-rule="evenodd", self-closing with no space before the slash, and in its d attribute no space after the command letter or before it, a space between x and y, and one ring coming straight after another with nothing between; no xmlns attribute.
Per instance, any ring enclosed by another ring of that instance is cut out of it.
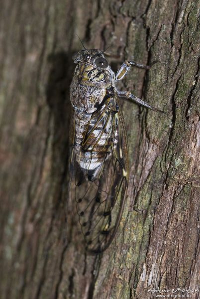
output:
<svg viewBox="0 0 200 299"><path fill-rule="evenodd" d="M87 167L83 168L79 156L83 158L86 152ZM96 161L97 167L91 170ZM125 202L128 166L125 126L116 96L114 101L108 98L92 116L81 150L74 156L74 197L91 253L104 251L115 236Z"/></svg>

